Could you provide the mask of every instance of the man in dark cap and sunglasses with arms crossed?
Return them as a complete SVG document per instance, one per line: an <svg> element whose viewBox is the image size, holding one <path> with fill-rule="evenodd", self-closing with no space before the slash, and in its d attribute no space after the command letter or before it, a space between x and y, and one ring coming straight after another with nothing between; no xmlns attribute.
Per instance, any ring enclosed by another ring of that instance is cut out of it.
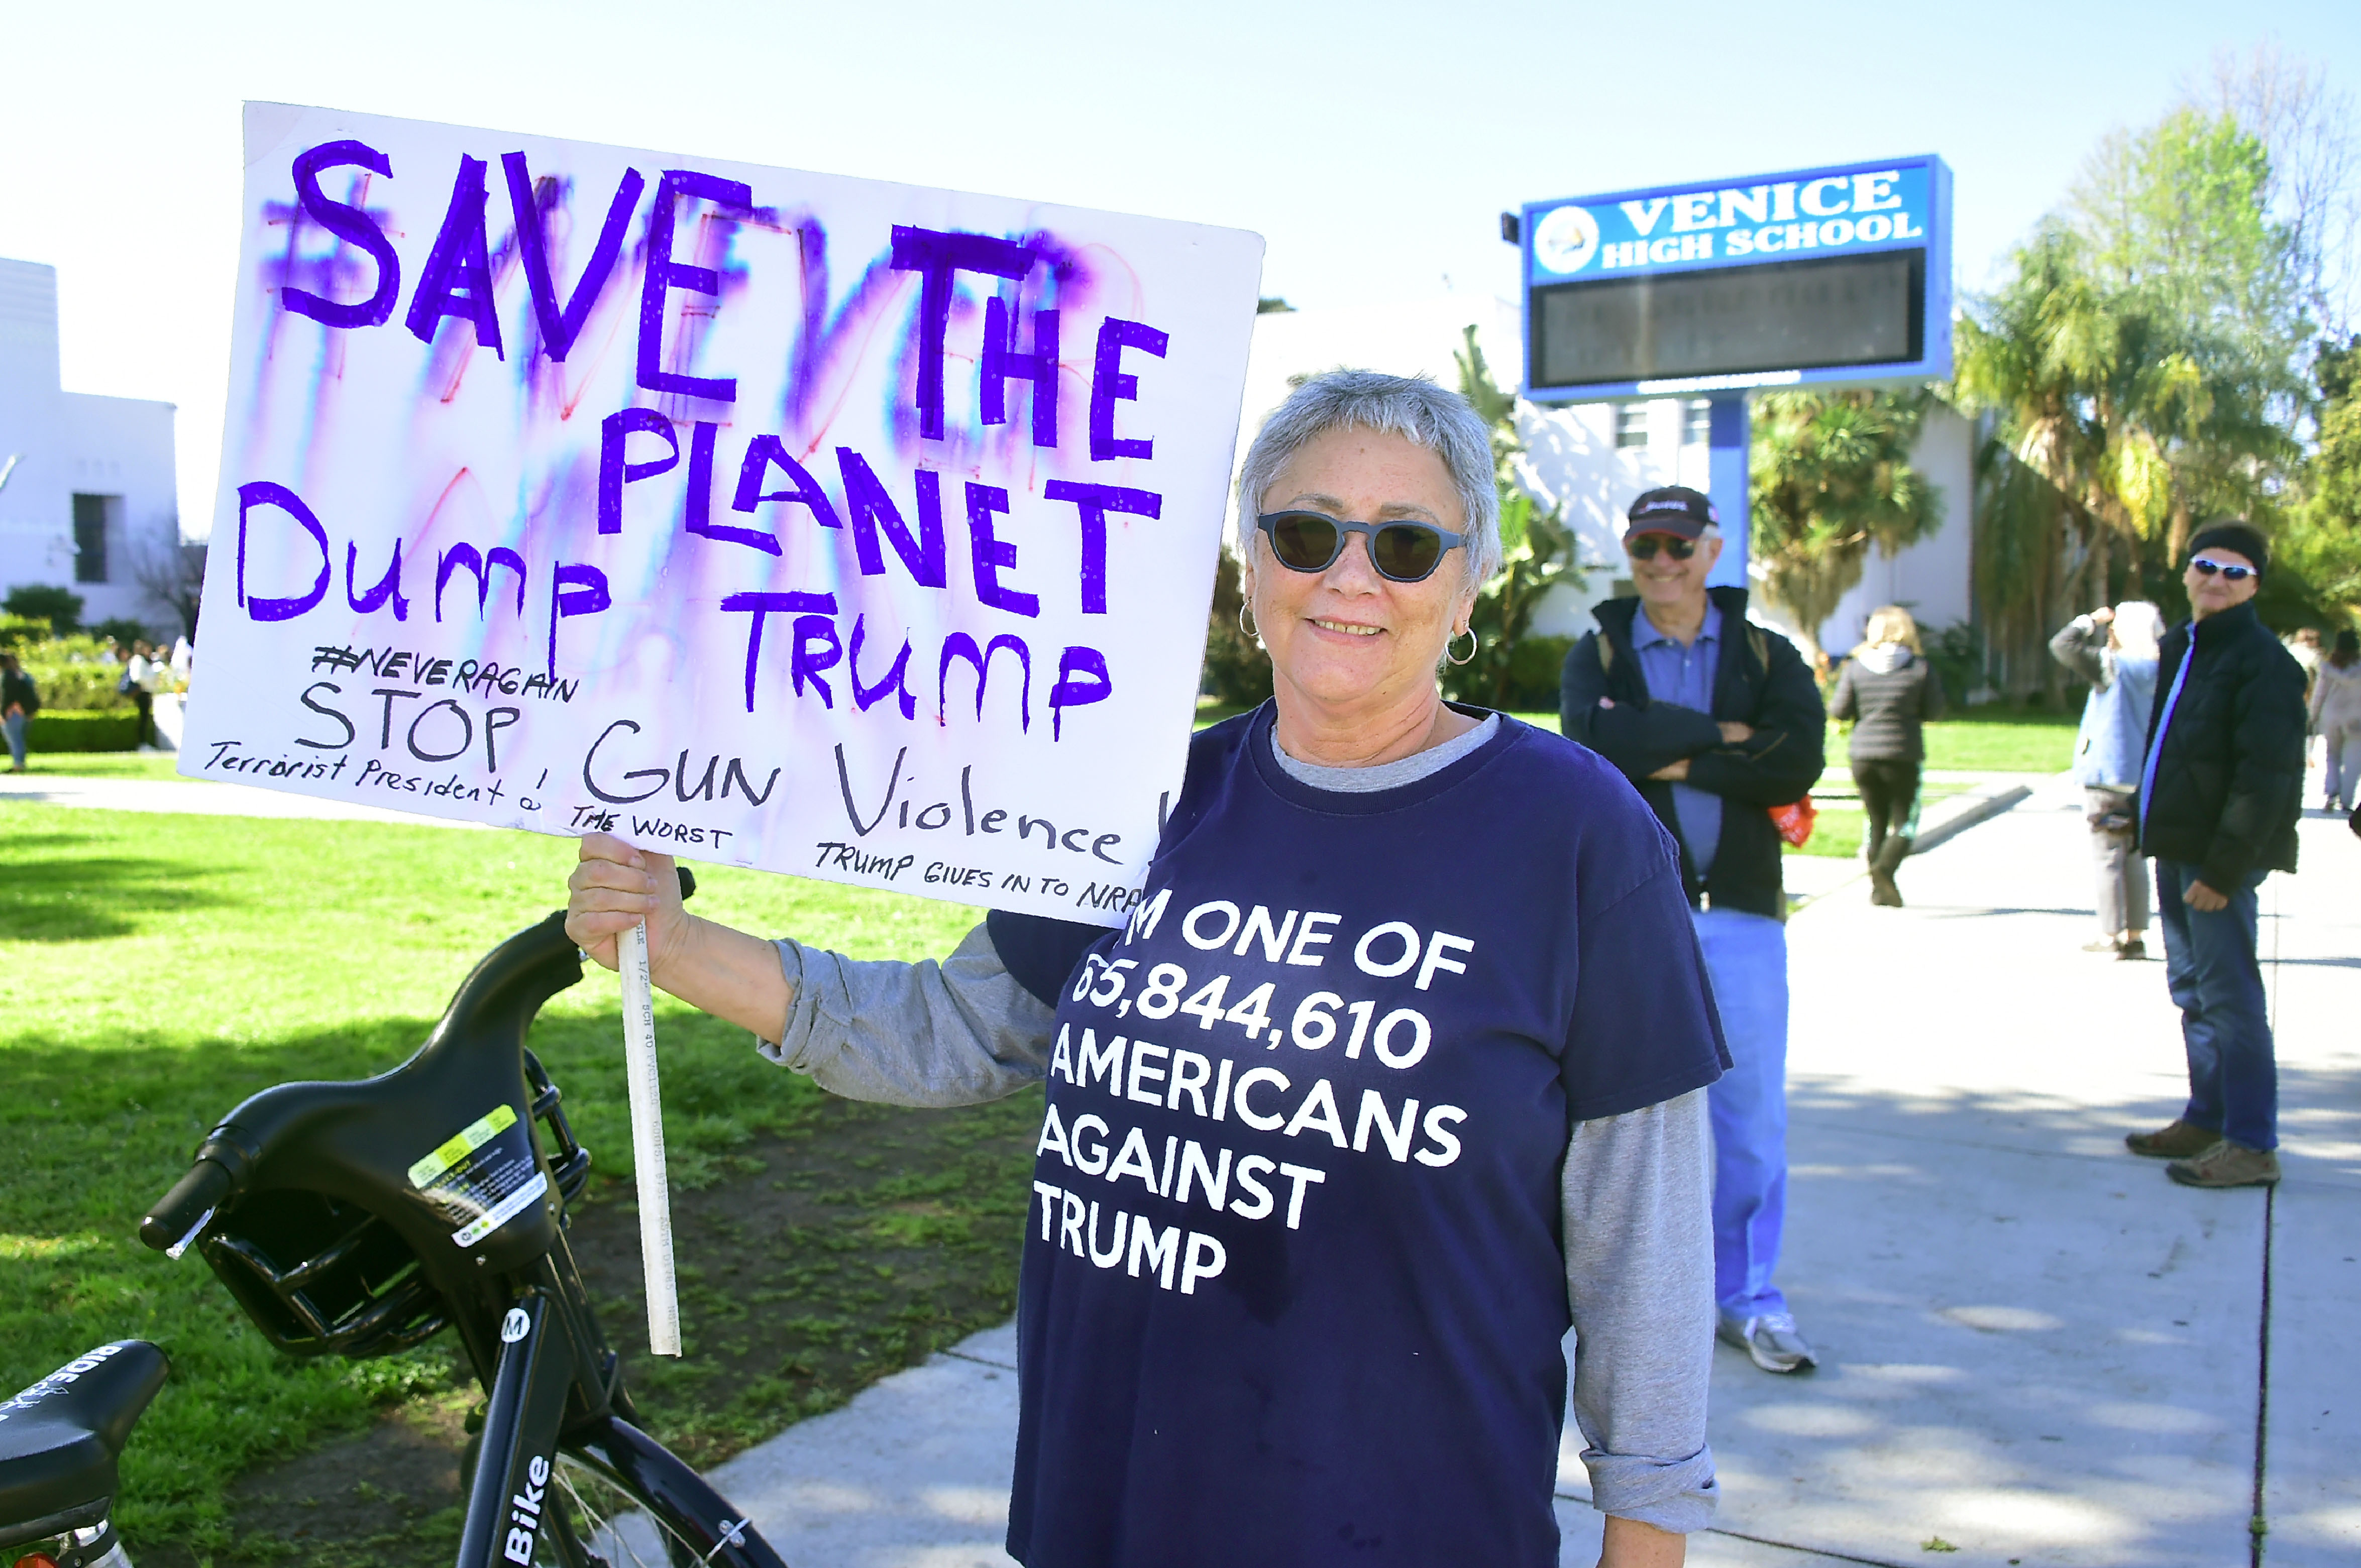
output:
<svg viewBox="0 0 2361 1568"><path fill-rule="evenodd" d="M1813 1365L1778 1268L1787 1209L1787 895L1778 805L1820 777L1827 727L1811 666L1747 621L1745 588L1707 588L1714 503L1686 486L1631 503L1639 597L1608 600L1565 656L1558 727L1629 777L1681 848L1690 921L1735 1063L1714 1122L1714 1299L1721 1337L1766 1372Z"/></svg>

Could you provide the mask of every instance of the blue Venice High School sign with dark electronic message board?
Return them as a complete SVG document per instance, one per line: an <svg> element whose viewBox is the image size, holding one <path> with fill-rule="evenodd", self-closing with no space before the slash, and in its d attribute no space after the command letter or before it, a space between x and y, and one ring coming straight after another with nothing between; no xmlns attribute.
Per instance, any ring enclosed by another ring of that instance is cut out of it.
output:
<svg viewBox="0 0 2361 1568"><path fill-rule="evenodd" d="M1525 208L1525 397L1950 375L1941 158Z"/></svg>

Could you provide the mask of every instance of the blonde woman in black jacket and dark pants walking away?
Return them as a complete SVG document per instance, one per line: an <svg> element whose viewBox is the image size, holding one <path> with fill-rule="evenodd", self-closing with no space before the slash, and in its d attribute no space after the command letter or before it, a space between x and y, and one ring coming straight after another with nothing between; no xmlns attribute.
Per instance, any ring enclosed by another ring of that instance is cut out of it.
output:
<svg viewBox="0 0 2361 1568"><path fill-rule="evenodd" d="M1910 855L1917 829L1919 765L1927 760L1927 720L1943 718L1943 678L1927 664L1917 621L1901 605L1870 612L1827 701L1830 718L1853 720L1853 786L1868 819L1870 902L1901 907L1894 871Z"/></svg>

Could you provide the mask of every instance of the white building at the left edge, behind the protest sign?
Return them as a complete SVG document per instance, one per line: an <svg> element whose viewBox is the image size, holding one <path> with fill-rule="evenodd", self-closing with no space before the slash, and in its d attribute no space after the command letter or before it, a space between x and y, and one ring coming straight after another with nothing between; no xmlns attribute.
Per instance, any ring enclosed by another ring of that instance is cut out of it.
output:
<svg viewBox="0 0 2361 1568"><path fill-rule="evenodd" d="M179 548L172 404L66 392L57 361L57 269L0 260L0 590L83 595L83 623L179 616L139 579Z"/></svg>

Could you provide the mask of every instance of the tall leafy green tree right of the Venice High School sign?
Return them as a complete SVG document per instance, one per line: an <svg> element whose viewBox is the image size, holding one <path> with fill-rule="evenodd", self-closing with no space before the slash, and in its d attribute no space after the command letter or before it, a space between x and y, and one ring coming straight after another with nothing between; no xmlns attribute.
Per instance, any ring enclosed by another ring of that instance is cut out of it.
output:
<svg viewBox="0 0 2361 1568"><path fill-rule="evenodd" d="M1955 401L1976 453L1976 590L2012 690L2078 609L2182 602L2200 522L2276 529L2302 468L2311 321L2271 158L2226 111L2182 106L2118 132L2066 208L1960 324Z"/></svg>

